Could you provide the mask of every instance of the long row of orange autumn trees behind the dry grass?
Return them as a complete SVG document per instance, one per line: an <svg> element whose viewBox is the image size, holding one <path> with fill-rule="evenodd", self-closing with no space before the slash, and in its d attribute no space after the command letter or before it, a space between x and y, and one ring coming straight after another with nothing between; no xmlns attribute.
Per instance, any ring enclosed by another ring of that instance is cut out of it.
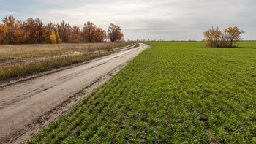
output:
<svg viewBox="0 0 256 144"><path fill-rule="evenodd" d="M2 18L0 24L0 44L34 44L61 42L111 42L123 40L124 34L118 25L110 24L108 31L97 27L92 22L84 24L83 29L70 26L64 20L60 24L52 22L44 25L39 18L16 20L13 16Z"/></svg>

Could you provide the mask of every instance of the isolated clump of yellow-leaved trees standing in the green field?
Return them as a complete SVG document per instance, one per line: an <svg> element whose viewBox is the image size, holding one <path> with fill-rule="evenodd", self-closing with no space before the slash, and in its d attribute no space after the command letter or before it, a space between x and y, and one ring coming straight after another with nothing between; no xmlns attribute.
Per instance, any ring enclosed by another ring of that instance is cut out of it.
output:
<svg viewBox="0 0 256 144"><path fill-rule="evenodd" d="M204 32L204 42L206 47L211 48L238 47L237 42L242 40L241 34L243 33L244 31L237 26L230 26L223 31L219 30L218 27L216 29L212 27Z"/></svg>

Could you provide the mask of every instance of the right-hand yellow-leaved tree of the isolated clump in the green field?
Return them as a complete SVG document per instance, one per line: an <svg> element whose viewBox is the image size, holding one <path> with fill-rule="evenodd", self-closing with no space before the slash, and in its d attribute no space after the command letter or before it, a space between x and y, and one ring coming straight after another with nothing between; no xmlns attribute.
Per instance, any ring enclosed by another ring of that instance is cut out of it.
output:
<svg viewBox="0 0 256 144"><path fill-rule="evenodd" d="M237 26L230 26L224 29L224 37L228 42L228 47L237 47L236 42L242 40L241 34L243 33L244 31L240 30Z"/></svg>

